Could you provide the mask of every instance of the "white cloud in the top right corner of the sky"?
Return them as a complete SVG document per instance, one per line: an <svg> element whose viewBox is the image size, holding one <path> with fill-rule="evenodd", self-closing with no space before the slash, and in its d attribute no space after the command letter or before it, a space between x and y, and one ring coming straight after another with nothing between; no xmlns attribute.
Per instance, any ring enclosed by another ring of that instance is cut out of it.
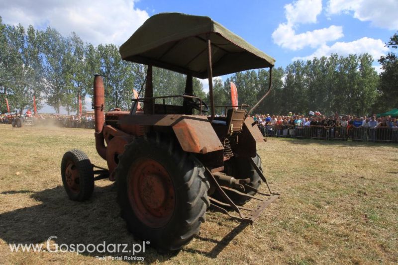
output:
<svg viewBox="0 0 398 265"><path fill-rule="evenodd" d="M398 29L397 0L329 0L329 14L353 12L361 21L371 21L373 25Z"/></svg>

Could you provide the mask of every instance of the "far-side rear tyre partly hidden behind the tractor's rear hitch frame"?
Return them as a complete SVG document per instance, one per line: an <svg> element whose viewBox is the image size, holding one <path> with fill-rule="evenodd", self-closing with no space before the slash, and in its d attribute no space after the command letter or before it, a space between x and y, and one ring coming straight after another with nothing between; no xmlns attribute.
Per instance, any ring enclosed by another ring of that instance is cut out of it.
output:
<svg viewBox="0 0 398 265"><path fill-rule="evenodd" d="M250 178L248 185L258 189L261 184L261 178L250 163L251 158L235 158L232 157L224 164L224 172L226 175L235 177L237 179ZM258 154L253 158L257 167L261 169L261 158ZM250 197L242 196L234 192L225 191L225 193L231 198L231 200L237 205L243 205L250 200ZM246 191L246 194L255 195L256 192L253 190Z"/></svg>

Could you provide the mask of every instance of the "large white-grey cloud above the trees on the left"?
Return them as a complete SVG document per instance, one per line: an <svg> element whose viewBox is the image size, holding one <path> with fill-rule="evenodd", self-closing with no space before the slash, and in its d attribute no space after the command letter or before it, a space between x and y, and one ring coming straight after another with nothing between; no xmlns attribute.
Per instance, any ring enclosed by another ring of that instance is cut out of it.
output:
<svg viewBox="0 0 398 265"><path fill-rule="evenodd" d="M149 17L134 0L0 0L4 23L51 26L62 35L75 31L94 45L121 45Z"/></svg>

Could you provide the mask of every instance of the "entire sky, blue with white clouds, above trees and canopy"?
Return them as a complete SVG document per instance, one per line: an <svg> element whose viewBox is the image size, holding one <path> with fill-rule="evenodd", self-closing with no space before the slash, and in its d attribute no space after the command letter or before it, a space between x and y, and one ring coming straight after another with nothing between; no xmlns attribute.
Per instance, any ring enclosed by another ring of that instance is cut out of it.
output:
<svg viewBox="0 0 398 265"><path fill-rule="evenodd" d="M377 59L398 30L398 0L0 0L5 23L50 25L93 44L122 44L160 12L207 15L286 67L330 53ZM203 81L204 87L207 87Z"/></svg>

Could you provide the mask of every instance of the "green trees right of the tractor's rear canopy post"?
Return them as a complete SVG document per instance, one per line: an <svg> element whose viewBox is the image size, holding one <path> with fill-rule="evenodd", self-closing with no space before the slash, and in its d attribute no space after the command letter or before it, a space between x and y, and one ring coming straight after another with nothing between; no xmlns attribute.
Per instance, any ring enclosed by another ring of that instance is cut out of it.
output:
<svg viewBox="0 0 398 265"><path fill-rule="evenodd" d="M374 59L365 53L346 57L329 57L295 61L285 69L272 71L272 91L255 110L257 114L322 114L366 115L398 108L398 34L389 42L387 55L378 59L379 75ZM255 104L268 89L269 73L261 69L236 73L225 82L215 80L215 102L230 104L230 82L238 89L238 101ZM221 110L219 110L221 111Z"/></svg>

